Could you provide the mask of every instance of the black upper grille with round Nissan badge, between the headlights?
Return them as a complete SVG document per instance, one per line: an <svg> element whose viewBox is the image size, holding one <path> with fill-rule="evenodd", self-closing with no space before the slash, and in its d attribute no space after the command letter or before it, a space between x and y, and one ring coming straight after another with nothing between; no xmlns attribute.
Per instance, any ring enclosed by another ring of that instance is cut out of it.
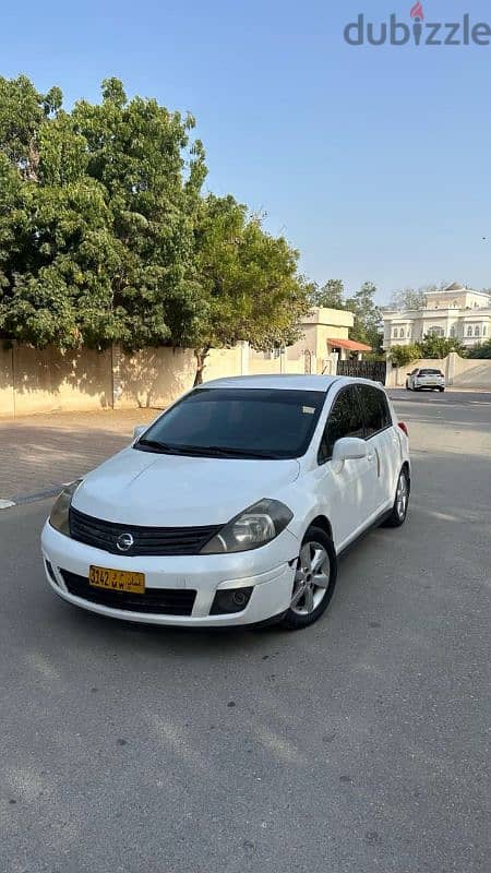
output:
<svg viewBox="0 0 491 873"><path fill-rule="evenodd" d="M207 527L140 527L120 525L93 518L79 510L70 509L70 535L79 542L94 546L111 554L172 555L200 554L203 546L220 530L221 525ZM131 534L133 545L129 549L118 549L118 538Z"/></svg>

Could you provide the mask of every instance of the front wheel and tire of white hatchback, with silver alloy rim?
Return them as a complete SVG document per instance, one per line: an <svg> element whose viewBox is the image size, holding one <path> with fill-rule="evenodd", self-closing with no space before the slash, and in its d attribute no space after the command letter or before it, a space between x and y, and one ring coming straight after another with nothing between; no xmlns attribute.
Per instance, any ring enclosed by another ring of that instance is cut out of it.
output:
<svg viewBox="0 0 491 873"><path fill-rule="evenodd" d="M314 572L315 562L324 559ZM322 582L321 585L315 584ZM294 582L291 603L279 624L288 631L309 627L327 609L337 578L337 558L333 540L320 527L312 526L303 537L297 573Z"/></svg>

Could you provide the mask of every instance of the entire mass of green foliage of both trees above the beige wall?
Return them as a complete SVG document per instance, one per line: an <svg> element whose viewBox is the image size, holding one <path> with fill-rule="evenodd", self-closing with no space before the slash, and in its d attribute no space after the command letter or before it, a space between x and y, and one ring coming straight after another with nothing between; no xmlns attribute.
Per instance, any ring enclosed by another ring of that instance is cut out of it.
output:
<svg viewBox="0 0 491 873"><path fill-rule="evenodd" d="M284 344L309 309L298 253L203 198L194 119L121 82L68 112L0 77L0 333L36 346Z"/></svg>

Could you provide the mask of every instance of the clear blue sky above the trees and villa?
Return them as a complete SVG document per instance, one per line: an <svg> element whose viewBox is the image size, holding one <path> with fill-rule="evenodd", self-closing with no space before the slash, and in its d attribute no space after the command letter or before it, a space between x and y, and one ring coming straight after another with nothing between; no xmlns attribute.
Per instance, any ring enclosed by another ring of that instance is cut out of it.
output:
<svg viewBox="0 0 491 873"><path fill-rule="evenodd" d="M427 22L491 24L484 0L421 1ZM26 0L2 9L0 74L60 85L67 106L116 75L192 112L206 189L263 212L320 284L371 280L380 302L489 287L491 46L344 39L359 13L409 22L412 2Z"/></svg>

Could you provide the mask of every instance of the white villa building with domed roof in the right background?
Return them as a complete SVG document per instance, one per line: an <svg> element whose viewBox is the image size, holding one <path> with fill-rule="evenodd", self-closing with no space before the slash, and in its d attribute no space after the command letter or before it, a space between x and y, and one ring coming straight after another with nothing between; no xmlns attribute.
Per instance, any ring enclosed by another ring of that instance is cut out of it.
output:
<svg viewBox="0 0 491 873"><path fill-rule="evenodd" d="M384 310L384 348L407 346L436 334L459 339L464 346L475 346L491 337L491 298L483 291L472 291L457 282L442 291L427 294L424 309Z"/></svg>

